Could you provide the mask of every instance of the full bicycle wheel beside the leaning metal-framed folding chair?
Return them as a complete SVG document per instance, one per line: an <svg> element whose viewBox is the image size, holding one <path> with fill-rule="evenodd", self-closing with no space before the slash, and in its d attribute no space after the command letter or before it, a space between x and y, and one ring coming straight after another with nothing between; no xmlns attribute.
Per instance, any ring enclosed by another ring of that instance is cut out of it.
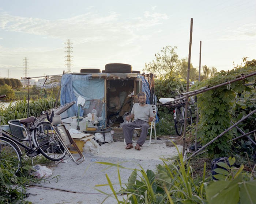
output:
<svg viewBox="0 0 256 204"><path fill-rule="evenodd" d="M33 132L33 143L39 147L42 155L52 161L65 158L67 152L49 122L39 123Z"/></svg>

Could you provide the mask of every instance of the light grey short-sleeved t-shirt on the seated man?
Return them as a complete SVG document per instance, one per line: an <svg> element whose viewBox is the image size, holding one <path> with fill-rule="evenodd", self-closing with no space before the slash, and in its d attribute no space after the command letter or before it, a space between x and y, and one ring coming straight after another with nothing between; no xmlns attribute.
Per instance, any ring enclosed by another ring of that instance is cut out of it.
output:
<svg viewBox="0 0 256 204"><path fill-rule="evenodd" d="M134 114L133 121L141 119L148 122L149 117L154 117L152 106L148 104L140 106L139 103L134 103L131 114Z"/></svg>

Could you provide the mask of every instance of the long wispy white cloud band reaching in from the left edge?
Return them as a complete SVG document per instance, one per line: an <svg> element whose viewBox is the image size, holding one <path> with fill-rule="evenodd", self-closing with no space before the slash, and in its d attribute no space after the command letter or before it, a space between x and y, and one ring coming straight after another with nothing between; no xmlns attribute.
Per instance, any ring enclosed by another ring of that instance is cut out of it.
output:
<svg viewBox="0 0 256 204"><path fill-rule="evenodd" d="M112 41L132 43L140 32L168 19L164 13L145 11L143 16L121 20L121 14L109 12L100 15L87 12L68 19L46 20L13 16L0 12L0 28L4 31L41 35L48 38L72 39L74 43ZM124 42L127 41L127 42Z"/></svg>

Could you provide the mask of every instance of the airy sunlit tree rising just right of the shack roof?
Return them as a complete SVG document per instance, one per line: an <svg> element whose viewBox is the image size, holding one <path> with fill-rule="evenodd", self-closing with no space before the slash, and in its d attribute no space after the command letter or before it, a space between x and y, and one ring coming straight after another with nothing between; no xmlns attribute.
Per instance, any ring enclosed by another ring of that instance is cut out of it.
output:
<svg viewBox="0 0 256 204"><path fill-rule="evenodd" d="M145 63L143 71L151 72L164 79L172 77L180 66L180 60L175 49L177 47L163 47L160 53L155 54L155 60L148 64Z"/></svg>

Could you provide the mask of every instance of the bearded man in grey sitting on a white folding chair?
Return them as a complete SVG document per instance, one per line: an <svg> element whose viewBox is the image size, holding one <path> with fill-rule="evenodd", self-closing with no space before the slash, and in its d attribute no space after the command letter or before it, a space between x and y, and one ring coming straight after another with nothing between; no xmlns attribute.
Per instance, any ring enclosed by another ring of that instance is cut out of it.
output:
<svg viewBox="0 0 256 204"><path fill-rule="evenodd" d="M128 115L125 119L129 121L133 119L133 122L125 123L122 125L124 138L127 146L125 149L133 148L132 145L132 136L135 130L135 127L139 127L141 129L139 140L135 146L135 149L140 150L140 147L146 141L147 133L148 133L148 122L152 122L154 120L154 113L151 105L146 104L146 94L144 92L138 93L139 103L134 103L131 111L131 115Z"/></svg>

